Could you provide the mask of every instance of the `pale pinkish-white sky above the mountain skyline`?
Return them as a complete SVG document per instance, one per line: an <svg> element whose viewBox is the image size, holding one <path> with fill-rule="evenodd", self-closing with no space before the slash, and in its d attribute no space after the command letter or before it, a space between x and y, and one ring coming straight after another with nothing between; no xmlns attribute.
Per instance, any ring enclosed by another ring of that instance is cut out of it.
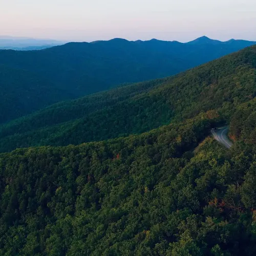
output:
<svg viewBox="0 0 256 256"><path fill-rule="evenodd" d="M256 41L255 0L0 0L0 35Z"/></svg>

